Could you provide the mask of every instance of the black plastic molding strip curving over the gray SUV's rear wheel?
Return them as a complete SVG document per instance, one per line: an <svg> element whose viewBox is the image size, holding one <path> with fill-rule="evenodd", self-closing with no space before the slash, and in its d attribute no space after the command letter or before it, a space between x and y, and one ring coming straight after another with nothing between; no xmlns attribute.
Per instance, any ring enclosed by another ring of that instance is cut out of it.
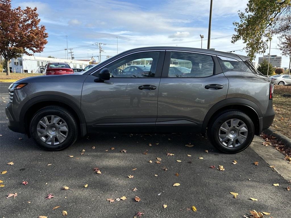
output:
<svg viewBox="0 0 291 218"><path fill-rule="evenodd" d="M260 130L262 130L262 111L260 110L258 105L256 105L255 103L247 99L230 98L230 99L224 99L222 101L219 101L214 106L212 106L212 108L210 108L210 110L207 112L204 118L201 132L205 133L208 122L215 112L217 112L219 109L223 107L232 106L232 105L242 105L242 106L247 106L251 108L258 115L258 118L260 121Z"/></svg>

